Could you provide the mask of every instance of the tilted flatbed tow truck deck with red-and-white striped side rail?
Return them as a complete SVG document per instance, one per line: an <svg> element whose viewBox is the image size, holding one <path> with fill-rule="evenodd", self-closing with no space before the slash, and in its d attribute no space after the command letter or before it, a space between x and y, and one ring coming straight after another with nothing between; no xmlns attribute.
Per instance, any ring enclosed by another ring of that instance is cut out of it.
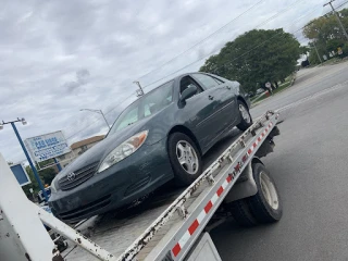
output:
<svg viewBox="0 0 348 261"><path fill-rule="evenodd" d="M278 134L277 120L277 113L266 112L249 129L234 137L227 148L221 147L224 150L219 157L212 160L208 156L208 166L189 187L150 196L150 203L145 202L144 209L140 204L116 216L109 213L97 219L90 238L40 209L36 212L46 225L82 247L65 257L69 261L185 260L224 201L232 202L258 191L251 182L247 186L237 184L239 187L233 189L236 192L229 192L243 173L250 175L248 167L251 170L253 159L258 159L256 154L263 157L272 151L273 136Z"/></svg>

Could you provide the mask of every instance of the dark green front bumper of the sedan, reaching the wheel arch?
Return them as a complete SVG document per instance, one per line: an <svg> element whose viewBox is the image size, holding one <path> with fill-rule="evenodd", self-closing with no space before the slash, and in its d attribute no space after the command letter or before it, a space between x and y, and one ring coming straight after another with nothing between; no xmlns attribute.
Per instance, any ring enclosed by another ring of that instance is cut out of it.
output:
<svg viewBox="0 0 348 261"><path fill-rule="evenodd" d="M49 206L55 216L72 223L132 203L173 176L166 139L162 139L142 145L132 156L71 190L52 194Z"/></svg>

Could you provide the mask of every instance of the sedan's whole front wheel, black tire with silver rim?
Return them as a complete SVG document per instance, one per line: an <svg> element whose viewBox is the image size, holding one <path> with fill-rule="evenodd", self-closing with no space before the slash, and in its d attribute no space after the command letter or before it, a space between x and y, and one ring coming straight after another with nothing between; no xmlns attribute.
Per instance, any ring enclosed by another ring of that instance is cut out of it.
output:
<svg viewBox="0 0 348 261"><path fill-rule="evenodd" d="M202 160L196 144L183 133L173 133L167 140L167 150L175 184L190 185L202 173Z"/></svg>

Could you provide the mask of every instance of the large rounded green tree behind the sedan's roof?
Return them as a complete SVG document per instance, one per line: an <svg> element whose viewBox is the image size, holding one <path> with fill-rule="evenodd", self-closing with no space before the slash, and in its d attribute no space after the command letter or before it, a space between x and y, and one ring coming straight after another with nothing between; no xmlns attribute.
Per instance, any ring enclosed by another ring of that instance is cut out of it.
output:
<svg viewBox="0 0 348 261"><path fill-rule="evenodd" d="M301 51L296 38L283 29L253 29L227 42L200 71L238 80L254 91L258 84L277 83L291 74Z"/></svg>

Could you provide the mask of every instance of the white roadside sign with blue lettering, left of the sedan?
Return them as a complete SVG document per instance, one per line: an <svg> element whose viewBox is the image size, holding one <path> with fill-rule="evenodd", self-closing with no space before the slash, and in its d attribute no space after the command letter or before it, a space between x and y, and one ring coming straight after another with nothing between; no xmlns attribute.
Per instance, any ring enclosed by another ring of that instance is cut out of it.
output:
<svg viewBox="0 0 348 261"><path fill-rule="evenodd" d="M71 151L62 132L27 138L24 142L32 159L36 162L49 160Z"/></svg>

